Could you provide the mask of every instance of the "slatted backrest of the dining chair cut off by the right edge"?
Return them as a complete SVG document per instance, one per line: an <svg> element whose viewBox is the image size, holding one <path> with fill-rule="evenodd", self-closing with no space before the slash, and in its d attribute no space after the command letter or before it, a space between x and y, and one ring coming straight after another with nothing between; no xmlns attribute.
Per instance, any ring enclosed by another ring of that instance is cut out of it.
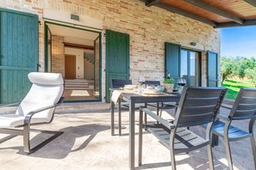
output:
<svg viewBox="0 0 256 170"><path fill-rule="evenodd" d="M256 118L256 88L240 88L229 118Z"/></svg>

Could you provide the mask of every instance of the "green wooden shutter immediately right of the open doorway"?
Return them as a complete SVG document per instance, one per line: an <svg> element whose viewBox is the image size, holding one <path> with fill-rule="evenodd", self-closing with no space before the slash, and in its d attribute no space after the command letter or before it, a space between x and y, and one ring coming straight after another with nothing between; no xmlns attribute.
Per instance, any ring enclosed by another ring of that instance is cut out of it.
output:
<svg viewBox="0 0 256 170"><path fill-rule="evenodd" d="M106 100L112 79L129 79L129 35L106 30Z"/></svg>

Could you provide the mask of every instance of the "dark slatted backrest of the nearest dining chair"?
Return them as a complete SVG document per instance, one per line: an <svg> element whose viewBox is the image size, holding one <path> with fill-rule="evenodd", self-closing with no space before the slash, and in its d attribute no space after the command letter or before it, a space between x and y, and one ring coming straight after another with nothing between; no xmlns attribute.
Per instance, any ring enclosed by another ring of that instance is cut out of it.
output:
<svg viewBox="0 0 256 170"><path fill-rule="evenodd" d="M213 122L226 91L226 88L184 87L173 124L185 127Z"/></svg>

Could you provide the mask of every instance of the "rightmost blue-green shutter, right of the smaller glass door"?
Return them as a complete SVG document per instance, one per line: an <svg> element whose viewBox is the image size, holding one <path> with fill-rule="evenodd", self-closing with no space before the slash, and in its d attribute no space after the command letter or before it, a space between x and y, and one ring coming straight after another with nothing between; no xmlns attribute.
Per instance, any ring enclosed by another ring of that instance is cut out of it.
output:
<svg viewBox="0 0 256 170"><path fill-rule="evenodd" d="M218 53L207 52L207 86L218 86Z"/></svg>

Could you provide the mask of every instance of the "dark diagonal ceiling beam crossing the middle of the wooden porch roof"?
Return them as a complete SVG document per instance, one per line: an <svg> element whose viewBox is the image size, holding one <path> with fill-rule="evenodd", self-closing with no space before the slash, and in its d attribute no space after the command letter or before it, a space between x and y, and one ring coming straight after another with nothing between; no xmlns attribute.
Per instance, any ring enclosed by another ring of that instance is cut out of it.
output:
<svg viewBox="0 0 256 170"><path fill-rule="evenodd" d="M228 18L232 21L235 21L239 24L244 23L244 20L240 19L239 17L237 17L235 15L231 15L222 9L218 9L215 6L210 5L209 3L204 3L202 0L184 0L184 1L187 3L191 3L193 5L196 5L197 7L200 7L201 9L206 9L216 15L221 15L221 16ZM246 1L250 1L250 0L246 0ZM253 1L253 2L256 2L256 1Z"/></svg>

